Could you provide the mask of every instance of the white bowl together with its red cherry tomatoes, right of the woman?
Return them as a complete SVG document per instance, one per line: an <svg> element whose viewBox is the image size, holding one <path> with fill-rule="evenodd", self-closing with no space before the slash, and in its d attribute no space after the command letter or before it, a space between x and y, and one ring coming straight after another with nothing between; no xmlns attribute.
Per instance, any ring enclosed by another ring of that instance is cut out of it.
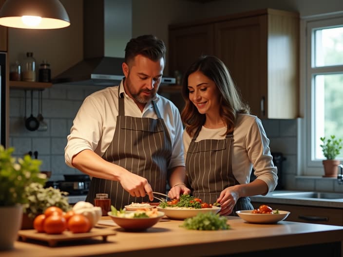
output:
<svg viewBox="0 0 343 257"><path fill-rule="evenodd" d="M249 223L277 223L285 220L289 211L273 210L270 206L262 204L258 209L236 211L236 214Z"/></svg>

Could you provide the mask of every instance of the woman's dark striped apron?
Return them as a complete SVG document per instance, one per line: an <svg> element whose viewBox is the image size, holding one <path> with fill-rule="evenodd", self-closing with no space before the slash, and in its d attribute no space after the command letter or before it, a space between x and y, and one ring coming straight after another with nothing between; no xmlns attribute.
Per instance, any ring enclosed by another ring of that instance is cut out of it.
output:
<svg viewBox="0 0 343 257"><path fill-rule="evenodd" d="M233 132L225 139L205 139L195 142L201 127L195 132L186 157L186 171L192 195L203 202L214 203L227 187L239 184L232 173ZM252 210L248 197L239 198L230 215L238 210Z"/></svg>

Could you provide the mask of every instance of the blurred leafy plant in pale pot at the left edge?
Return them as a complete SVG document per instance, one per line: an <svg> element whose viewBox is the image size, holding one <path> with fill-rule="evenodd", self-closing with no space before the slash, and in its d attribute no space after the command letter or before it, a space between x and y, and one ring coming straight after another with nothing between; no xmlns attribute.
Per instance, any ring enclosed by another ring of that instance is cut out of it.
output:
<svg viewBox="0 0 343 257"><path fill-rule="evenodd" d="M0 250L11 249L18 237L22 204L27 202L25 187L33 182L44 184L46 176L39 172L41 161L29 155L18 160L14 148L0 146Z"/></svg>

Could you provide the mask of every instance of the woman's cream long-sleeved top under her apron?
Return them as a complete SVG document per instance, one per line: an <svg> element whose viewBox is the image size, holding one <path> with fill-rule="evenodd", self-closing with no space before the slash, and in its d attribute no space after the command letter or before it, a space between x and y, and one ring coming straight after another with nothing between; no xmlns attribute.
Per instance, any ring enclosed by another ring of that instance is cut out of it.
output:
<svg viewBox="0 0 343 257"><path fill-rule="evenodd" d="M195 141L224 139L226 129L226 127L207 129L203 126ZM191 139L185 130L183 133L185 160ZM256 116L238 114L233 131L232 172L240 184L249 183L252 167L257 179L263 180L268 185L268 192L273 191L277 185L277 168L272 162L269 139L262 122Z"/></svg>

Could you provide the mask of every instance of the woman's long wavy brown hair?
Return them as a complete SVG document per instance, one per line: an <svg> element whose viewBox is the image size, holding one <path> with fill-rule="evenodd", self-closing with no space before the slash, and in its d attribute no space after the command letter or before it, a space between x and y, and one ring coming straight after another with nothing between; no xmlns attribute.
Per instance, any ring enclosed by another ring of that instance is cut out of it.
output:
<svg viewBox="0 0 343 257"><path fill-rule="evenodd" d="M182 83L182 96L186 104L181 112L181 119L186 126L187 133L192 136L196 129L205 124L206 120L205 114L200 114L189 98L188 77L196 71L200 71L216 84L220 93L219 104L221 109L219 115L227 125L226 134L232 132L237 114L248 114L249 107L242 102L225 64L215 56L203 55L190 66Z"/></svg>

